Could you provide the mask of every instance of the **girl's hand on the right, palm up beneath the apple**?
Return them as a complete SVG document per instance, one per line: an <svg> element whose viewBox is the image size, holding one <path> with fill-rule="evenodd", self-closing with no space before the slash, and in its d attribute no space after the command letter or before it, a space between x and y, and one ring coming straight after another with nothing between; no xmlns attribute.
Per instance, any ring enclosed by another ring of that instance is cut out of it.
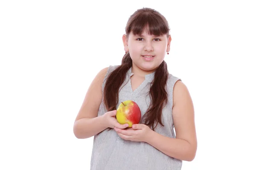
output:
<svg viewBox="0 0 256 170"><path fill-rule="evenodd" d="M114 127L116 133L125 140L136 141L136 142L146 142L148 139L148 134L152 131L147 125L144 124L134 124L131 128L119 129Z"/></svg>

